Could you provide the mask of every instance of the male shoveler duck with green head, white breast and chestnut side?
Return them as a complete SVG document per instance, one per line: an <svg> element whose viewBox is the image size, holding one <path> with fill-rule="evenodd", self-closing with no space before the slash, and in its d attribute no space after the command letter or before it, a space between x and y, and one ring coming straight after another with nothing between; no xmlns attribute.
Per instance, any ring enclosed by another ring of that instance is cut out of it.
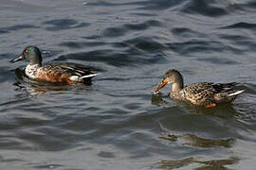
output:
<svg viewBox="0 0 256 170"><path fill-rule="evenodd" d="M42 66L42 55L38 47L27 46L22 55L10 62L27 59L25 73L29 78L48 82L75 84L90 80L97 73L78 64L53 63Z"/></svg>

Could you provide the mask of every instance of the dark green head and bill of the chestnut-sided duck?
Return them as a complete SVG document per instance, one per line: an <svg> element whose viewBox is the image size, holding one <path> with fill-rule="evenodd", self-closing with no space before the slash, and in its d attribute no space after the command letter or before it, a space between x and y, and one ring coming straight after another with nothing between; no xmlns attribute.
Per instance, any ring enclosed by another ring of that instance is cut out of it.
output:
<svg viewBox="0 0 256 170"><path fill-rule="evenodd" d="M24 50L20 57L11 59L10 62L16 62L22 59L27 59L30 64L42 65L42 55L38 47L29 45Z"/></svg>

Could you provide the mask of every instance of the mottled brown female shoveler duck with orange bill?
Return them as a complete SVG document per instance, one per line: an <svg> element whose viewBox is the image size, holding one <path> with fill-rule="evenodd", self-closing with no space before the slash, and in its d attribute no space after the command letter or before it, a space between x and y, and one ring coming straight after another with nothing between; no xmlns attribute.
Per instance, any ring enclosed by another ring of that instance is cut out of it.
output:
<svg viewBox="0 0 256 170"><path fill-rule="evenodd" d="M210 83L199 82L184 87L183 77L176 70L166 72L160 84L153 93L158 92L164 86L173 84L170 97L182 101L189 101L196 106L214 107L218 103L229 103L242 91L234 91L231 88L235 83Z"/></svg>

